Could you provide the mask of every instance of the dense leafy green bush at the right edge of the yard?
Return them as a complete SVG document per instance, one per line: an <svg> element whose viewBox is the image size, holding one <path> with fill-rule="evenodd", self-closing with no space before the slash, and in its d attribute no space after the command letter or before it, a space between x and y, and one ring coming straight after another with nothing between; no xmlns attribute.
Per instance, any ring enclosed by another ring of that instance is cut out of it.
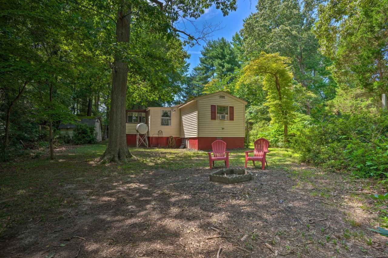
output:
<svg viewBox="0 0 388 258"><path fill-rule="evenodd" d="M388 116L353 115L311 122L292 139L302 162L357 177L384 176L388 172Z"/></svg>

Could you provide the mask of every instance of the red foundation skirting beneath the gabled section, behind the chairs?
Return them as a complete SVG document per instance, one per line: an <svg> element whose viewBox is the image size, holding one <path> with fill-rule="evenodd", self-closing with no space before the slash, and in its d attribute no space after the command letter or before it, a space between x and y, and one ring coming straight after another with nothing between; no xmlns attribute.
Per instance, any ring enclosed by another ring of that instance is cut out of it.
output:
<svg viewBox="0 0 388 258"><path fill-rule="evenodd" d="M189 138L189 148L194 150L211 150L211 143L217 137L195 137ZM244 148L244 137L222 137L227 149Z"/></svg>

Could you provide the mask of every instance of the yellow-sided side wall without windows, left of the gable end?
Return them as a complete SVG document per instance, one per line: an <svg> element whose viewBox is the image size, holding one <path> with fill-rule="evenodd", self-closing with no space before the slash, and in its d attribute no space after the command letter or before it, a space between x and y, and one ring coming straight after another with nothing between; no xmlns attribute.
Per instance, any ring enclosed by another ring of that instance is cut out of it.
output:
<svg viewBox="0 0 388 258"><path fill-rule="evenodd" d="M197 102L180 109L180 138L197 137Z"/></svg>

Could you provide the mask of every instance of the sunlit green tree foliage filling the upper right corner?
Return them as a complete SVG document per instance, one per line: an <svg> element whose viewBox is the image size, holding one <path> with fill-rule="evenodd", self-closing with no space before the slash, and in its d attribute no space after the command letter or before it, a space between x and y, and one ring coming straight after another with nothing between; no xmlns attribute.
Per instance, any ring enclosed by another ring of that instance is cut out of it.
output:
<svg viewBox="0 0 388 258"><path fill-rule="evenodd" d="M330 71L338 83L386 92L387 11L387 0L330 0L319 6L314 33L322 53L334 60Z"/></svg>

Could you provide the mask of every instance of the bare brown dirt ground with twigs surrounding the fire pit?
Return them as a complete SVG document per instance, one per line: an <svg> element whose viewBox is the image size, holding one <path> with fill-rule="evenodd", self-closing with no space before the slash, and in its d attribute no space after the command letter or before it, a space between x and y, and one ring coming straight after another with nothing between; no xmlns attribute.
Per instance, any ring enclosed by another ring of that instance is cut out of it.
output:
<svg viewBox="0 0 388 258"><path fill-rule="evenodd" d="M211 182L215 170L204 168L80 178L59 190L74 205L8 230L0 256L388 257L387 239L367 229L375 215L349 193L354 183L269 165L237 184Z"/></svg>

